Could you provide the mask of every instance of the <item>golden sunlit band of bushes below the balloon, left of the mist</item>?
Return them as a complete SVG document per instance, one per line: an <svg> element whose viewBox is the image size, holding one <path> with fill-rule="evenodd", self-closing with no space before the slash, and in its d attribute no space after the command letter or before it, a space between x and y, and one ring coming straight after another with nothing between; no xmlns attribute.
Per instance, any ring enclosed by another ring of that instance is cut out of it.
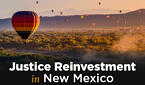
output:
<svg viewBox="0 0 145 85"><path fill-rule="evenodd" d="M11 49L37 49L47 51L66 51L71 49L108 50L120 37L118 33L98 32L39 32L27 42L14 32L0 33L0 46ZM107 48L106 48L107 47Z"/></svg>

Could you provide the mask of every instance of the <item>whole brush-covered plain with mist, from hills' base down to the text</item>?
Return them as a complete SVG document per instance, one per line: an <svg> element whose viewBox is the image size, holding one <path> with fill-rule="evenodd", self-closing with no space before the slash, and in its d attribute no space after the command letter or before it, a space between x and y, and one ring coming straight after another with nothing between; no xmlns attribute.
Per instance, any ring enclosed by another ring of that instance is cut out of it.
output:
<svg viewBox="0 0 145 85"><path fill-rule="evenodd" d="M36 32L27 44L12 31L0 33L0 66L11 62L61 61L144 64L145 32Z"/></svg>

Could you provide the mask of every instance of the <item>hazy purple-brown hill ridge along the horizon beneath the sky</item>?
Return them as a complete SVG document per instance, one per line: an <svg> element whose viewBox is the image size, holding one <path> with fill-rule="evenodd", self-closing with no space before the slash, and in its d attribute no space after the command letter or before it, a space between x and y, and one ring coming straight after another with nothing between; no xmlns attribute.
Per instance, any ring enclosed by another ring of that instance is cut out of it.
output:
<svg viewBox="0 0 145 85"><path fill-rule="evenodd" d="M106 16L109 16L106 18ZM123 14L110 15L88 15L81 19L81 15L74 16L40 16L39 29L51 28L90 28L95 27L116 27L116 26L137 26L145 25L145 9L139 9ZM11 29L11 19L0 19L0 29Z"/></svg>

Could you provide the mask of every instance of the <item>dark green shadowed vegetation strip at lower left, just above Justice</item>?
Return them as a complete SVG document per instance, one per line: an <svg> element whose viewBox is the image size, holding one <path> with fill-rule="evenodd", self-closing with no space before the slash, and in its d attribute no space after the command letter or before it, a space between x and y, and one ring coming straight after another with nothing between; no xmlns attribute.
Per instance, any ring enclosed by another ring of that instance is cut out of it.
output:
<svg viewBox="0 0 145 85"><path fill-rule="evenodd" d="M0 51L0 71L8 70L12 62L17 63L29 63L29 62L39 62L39 63L49 63L52 64L56 62L68 63L70 61L78 62L78 58L68 57L63 55L41 55L41 54L27 54L27 53L11 53Z"/></svg>

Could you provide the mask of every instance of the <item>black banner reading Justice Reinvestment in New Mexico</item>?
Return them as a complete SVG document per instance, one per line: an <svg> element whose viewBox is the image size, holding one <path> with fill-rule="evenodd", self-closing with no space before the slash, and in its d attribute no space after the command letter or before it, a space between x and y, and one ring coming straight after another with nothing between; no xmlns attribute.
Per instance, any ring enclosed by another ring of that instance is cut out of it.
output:
<svg viewBox="0 0 145 85"><path fill-rule="evenodd" d="M7 71L1 71L0 80L4 85L143 85L144 74L144 65L134 62L128 64L55 62L53 65L13 62Z"/></svg>

